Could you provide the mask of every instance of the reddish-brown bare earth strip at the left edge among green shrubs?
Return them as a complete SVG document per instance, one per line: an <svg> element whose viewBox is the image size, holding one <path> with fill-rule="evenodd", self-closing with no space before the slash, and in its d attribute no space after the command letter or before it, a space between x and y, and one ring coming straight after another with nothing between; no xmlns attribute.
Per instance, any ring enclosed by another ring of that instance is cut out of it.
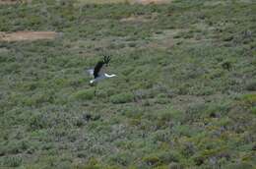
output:
<svg viewBox="0 0 256 169"><path fill-rule="evenodd" d="M55 31L17 31L0 32L0 41L23 41L37 39L53 39L57 33Z"/></svg>

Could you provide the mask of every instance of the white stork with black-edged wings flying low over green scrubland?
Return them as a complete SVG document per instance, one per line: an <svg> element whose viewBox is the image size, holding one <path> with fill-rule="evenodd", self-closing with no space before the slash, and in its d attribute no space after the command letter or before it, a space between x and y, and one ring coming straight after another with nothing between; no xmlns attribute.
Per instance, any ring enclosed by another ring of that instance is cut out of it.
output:
<svg viewBox="0 0 256 169"><path fill-rule="evenodd" d="M104 73L105 67L108 66L109 61L110 61L110 57L104 56L103 60L100 60L96 63L96 67L94 69L88 70L88 73L90 74L90 76L94 78L93 80L90 81L91 85L94 85L101 80L116 76L114 74L108 75ZM95 95L96 95L96 90L95 90Z"/></svg>

